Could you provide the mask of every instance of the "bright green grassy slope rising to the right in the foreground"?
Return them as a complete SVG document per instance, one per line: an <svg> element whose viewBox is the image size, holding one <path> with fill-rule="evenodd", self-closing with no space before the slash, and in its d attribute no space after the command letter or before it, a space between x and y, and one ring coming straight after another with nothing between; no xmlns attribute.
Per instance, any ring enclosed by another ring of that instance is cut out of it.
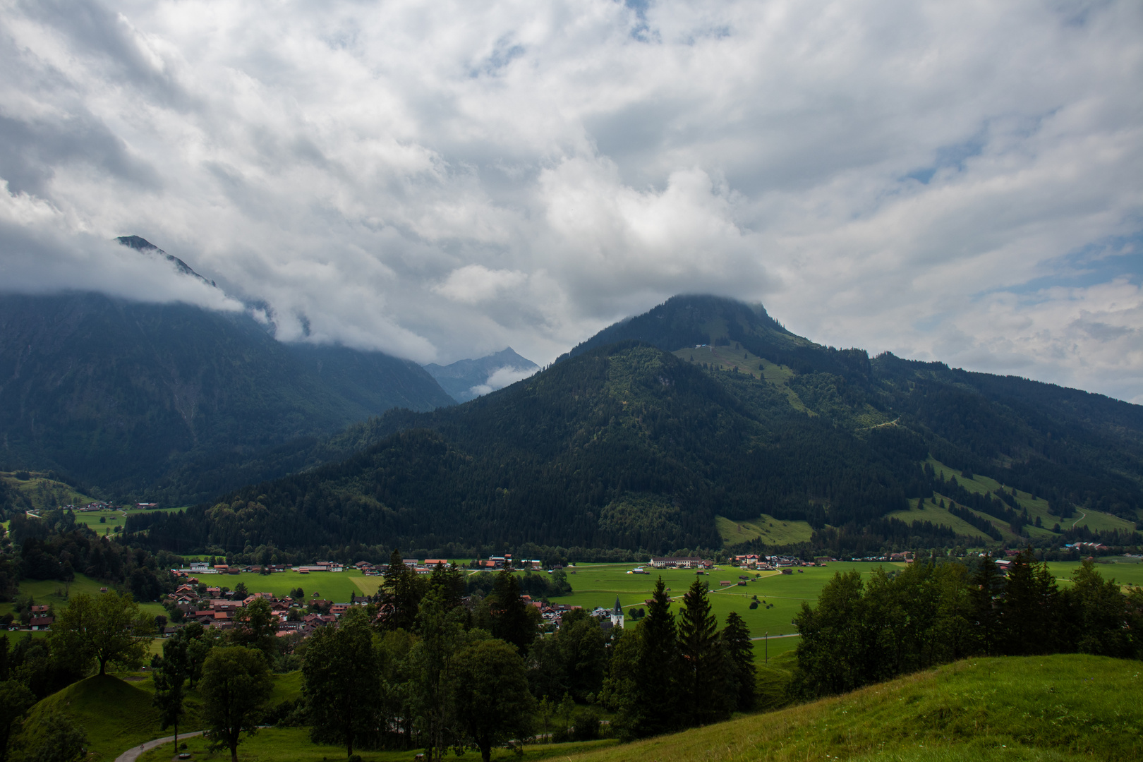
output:
<svg viewBox="0 0 1143 762"><path fill-rule="evenodd" d="M573 757L657 760L1143 759L1136 661L967 659L781 712Z"/></svg>

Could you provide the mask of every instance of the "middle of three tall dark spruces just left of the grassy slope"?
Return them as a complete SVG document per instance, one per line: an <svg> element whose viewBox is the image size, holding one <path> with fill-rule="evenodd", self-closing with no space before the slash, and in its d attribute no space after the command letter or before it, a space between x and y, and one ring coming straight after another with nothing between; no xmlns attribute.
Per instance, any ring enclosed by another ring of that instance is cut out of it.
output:
<svg viewBox="0 0 1143 762"><path fill-rule="evenodd" d="M682 596L679 616L679 692L685 724L705 724L725 714L719 656L718 620L711 613L706 585L696 577Z"/></svg>

